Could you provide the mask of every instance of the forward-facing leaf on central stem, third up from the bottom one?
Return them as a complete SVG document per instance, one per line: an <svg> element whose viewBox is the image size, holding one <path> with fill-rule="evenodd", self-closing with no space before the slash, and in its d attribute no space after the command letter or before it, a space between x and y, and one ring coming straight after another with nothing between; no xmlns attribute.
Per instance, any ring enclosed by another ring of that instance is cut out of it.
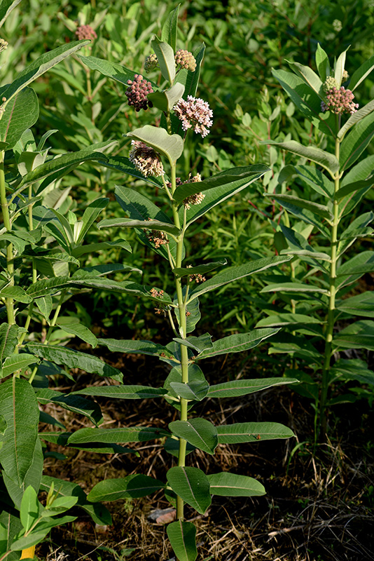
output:
<svg viewBox="0 0 374 561"><path fill-rule="evenodd" d="M216 427L207 419L197 417L189 421L173 421L169 423L169 431L208 454L213 455L218 445Z"/></svg>

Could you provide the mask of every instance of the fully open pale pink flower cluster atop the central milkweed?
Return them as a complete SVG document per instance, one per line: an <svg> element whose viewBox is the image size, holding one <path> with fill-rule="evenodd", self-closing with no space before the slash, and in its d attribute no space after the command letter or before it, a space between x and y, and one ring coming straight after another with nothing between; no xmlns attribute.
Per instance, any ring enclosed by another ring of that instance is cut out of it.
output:
<svg viewBox="0 0 374 561"><path fill-rule="evenodd" d="M202 138L209 134L209 127L212 126L213 111L209 109L209 103L188 95L187 100L179 100L174 105L174 111L178 119L182 122L184 131L193 128L195 133L202 135Z"/></svg>

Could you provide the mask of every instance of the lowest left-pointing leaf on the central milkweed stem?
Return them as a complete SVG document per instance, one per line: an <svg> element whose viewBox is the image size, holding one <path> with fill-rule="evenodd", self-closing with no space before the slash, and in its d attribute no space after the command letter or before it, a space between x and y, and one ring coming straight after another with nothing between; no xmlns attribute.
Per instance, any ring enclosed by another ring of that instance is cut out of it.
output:
<svg viewBox="0 0 374 561"><path fill-rule="evenodd" d="M125 478L106 479L99 481L88 493L88 500L93 503L98 501L116 501L118 499L138 499L163 489L165 484L148 477L148 475L127 475Z"/></svg>

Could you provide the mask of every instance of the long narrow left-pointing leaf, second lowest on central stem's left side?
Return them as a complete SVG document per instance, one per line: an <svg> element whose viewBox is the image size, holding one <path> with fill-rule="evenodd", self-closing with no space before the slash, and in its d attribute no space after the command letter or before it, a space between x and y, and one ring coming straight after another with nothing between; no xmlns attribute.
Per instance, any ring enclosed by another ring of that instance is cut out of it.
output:
<svg viewBox="0 0 374 561"><path fill-rule="evenodd" d="M86 444L87 442L146 442L170 436L163 428L148 426L130 426L125 428L80 428L69 437L68 444Z"/></svg>

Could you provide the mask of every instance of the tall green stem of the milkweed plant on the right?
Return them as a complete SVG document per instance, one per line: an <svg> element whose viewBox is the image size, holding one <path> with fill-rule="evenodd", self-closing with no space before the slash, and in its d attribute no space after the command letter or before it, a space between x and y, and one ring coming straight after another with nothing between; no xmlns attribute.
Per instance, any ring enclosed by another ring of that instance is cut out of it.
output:
<svg viewBox="0 0 374 561"><path fill-rule="evenodd" d="M339 160L340 156L340 141L338 138L335 140L335 156ZM331 356L333 354L333 328L335 323L335 293L336 293L336 261L338 250L338 226L339 226L339 206L338 206L338 191L340 187L340 173L335 174L334 181L334 195L333 195L333 223L331 227L331 262L330 262L330 278L329 278L329 292L328 299L328 313L327 325L325 336L325 352L324 352L324 366L322 368L322 388L321 400L319 403L319 433L321 437L326 435L327 426L327 411L326 404L328 398L328 385L330 383L330 365Z"/></svg>

